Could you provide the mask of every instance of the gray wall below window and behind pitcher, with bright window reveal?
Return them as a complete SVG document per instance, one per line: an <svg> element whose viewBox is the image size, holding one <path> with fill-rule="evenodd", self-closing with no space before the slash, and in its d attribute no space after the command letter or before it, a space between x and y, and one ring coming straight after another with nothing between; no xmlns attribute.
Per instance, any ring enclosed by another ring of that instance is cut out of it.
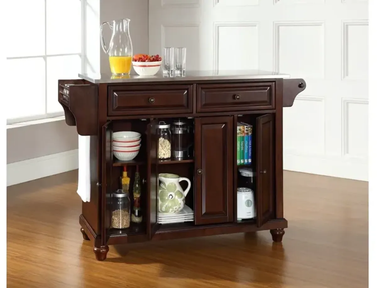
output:
<svg viewBox="0 0 377 288"><path fill-rule="evenodd" d="M86 9L89 21L86 31L86 55L94 71L99 69L97 63L101 64L101 72L110 71L108 58L100 48L99 25L101 22L130 18L134 53L148 51L148 0L88 0L88 3L90 7ZM96 10L99 10L99 13ZM109 41L110 29L105 30L107 31L104 35L105 39ZM77 148L76 129L67 126L64 120L7 130L7 163Z"/></svg>

